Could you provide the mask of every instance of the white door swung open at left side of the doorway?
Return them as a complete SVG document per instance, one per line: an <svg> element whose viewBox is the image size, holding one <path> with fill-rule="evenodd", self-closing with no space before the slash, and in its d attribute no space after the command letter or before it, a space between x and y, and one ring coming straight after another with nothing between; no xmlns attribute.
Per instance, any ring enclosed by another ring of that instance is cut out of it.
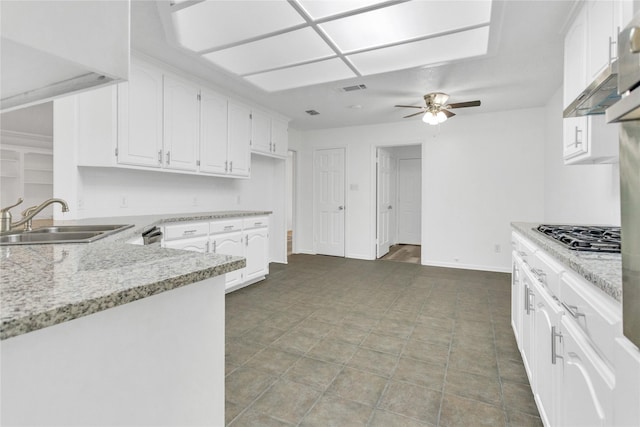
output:
<svg viewBox="0 0 640 427"><path fill-rule="evenodd" d="M377 162L377 258L389 252L392 243L392 213L393 213L393 165L389 150L378 148Z"/></svg>

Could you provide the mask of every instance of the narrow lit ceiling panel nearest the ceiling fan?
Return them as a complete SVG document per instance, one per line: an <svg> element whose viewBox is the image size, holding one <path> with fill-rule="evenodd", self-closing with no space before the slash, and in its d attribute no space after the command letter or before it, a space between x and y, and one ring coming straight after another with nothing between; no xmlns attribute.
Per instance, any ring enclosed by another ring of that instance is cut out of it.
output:
<svg viewBox="0 0 640 427"><path fill-rule="evenodd" d="M363 75L420 67L487 53L489 27L349 55Z"/></svg>

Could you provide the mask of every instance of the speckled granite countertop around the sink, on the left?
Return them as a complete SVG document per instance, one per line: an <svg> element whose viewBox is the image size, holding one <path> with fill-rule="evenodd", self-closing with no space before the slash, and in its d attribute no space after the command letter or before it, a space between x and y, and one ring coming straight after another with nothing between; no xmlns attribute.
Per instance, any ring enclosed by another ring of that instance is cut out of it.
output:
<svg viewBox="0 0 640 427"><path fill-rule="evenodd" d="M134 224L93 243L0 247L0 339L97 313L111 307L245 267L242 257L200 254L127 243L153 225L268 215L225 211L56 221L61 224Z"/></svg>

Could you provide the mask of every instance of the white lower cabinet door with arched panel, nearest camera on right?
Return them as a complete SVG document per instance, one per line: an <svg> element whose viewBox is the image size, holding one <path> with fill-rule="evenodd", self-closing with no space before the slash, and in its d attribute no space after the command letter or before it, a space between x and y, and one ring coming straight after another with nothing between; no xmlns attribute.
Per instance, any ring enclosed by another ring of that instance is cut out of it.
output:
<svg viewBox="0 0 640 427"><path fill-rule="evenodd" d="M614 375L566 316L562 319L560 426L612 425Z"/></svg>

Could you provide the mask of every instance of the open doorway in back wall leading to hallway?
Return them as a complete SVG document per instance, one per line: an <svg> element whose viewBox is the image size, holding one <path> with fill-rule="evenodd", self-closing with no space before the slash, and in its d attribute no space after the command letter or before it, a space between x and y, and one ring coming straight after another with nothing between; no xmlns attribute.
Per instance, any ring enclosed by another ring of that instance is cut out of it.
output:
<svg viewBox="0 0 640 427"><path fill-rule="evenodd" d="M376 149L376 258L420 263L420 145Z"/></svg>

